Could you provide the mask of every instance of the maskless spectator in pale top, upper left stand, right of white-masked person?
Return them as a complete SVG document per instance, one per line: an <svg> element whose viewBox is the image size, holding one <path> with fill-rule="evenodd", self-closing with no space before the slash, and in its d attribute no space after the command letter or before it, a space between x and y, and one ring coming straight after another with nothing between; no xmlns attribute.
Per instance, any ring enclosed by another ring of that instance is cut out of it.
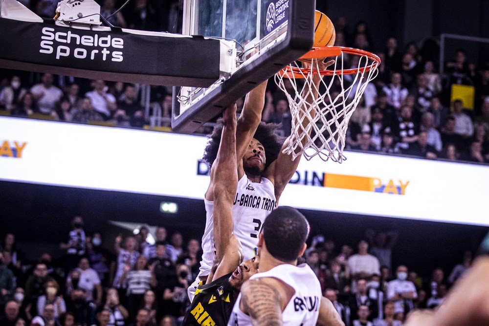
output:
<svg viewBox="0 0 489 326"><path fill-rule="evenodd" d="M58 87L53 86L53 75L45 73L41 84L36 84L30 89L34 95L37 108L40 113L50 115L56 108L56 103L63 96Z"/></svg>

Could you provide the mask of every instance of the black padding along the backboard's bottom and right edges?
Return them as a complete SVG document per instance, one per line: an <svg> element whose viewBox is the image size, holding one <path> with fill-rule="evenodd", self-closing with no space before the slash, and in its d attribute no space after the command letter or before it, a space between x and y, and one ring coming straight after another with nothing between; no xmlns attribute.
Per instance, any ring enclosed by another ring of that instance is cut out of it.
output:
<svg viewBox="0 0 489 326"><path fill-rule="evenodd" d="M174 87L172 130L180 133L194 132L203 123L220 114L224 108L311 49L314 42L316 1L289 1L286 40L269 49L251 64L238 70L227 81L179 116L176 114L179 112L176 99L178 87Z"/></svg>

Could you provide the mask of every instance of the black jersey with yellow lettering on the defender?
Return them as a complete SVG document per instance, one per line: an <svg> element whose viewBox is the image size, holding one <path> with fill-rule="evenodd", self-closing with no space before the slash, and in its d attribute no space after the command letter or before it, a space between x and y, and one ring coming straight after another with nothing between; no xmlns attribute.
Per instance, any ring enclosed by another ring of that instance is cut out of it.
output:
<svg viewBox="0 0 489 326"><path fill-rule="evenodd" d="M232 273L199 285L182 326L226 326L238 297L229 284Z"/></svg>

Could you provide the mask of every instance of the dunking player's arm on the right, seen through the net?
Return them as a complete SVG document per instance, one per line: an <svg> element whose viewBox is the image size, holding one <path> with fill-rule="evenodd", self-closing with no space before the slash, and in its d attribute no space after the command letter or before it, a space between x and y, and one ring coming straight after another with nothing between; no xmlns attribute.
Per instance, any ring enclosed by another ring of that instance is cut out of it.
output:
<svg viewBox="0 0 489 326"><path fill-rule="evenodd" d="M328 66L333 65L334 60L330 60L326 63L322 61L318 61L317 65L319 66L319 69L326 69ZM315 65L315 63L313 63ZM308 63L303 63L304 68L309 68L310 64ZM315 69L315 67L313 67ZM314 102L314 100L318 96L319 92L319 85L321 83L322 76L320 75L314 75L312 78L312 84L310 88L304 89L304 93L302 94L302 97L305 98L306 103L304 106L311 106L311 104ZM309 91L311 90L311 91ZM306 108L304 108L307 110ZM314 110L310 112L311 118L314 118L315 112ZM299 113L299 116L297 119L301 121L303 116L302 111ZM308 128L308 125L310 123L310 117L305 117L304 120L302 120L302 126L301 126L301 132L307 132L309 135L311 135L311 128ZM308 141L309 137L303 137L302 138L302 144L305 145L306 142ZM275 197L277 198L276 203L278 205L278 201L280 198L280 195L282 195L282 192L285 189L285 186L289 183L290 179L294 175L295 171L297 170L297 166L299 165L300 161L300 156L296 157L295 160L292 160L292 155L289 154L284 154L283 150L285 150L289 146L289 141L290 137L286 139L284 142L284 145L282 146L282 149L277 157L277 159L270 164L268 167L265 177L272 181L275 187Z"/></svg>

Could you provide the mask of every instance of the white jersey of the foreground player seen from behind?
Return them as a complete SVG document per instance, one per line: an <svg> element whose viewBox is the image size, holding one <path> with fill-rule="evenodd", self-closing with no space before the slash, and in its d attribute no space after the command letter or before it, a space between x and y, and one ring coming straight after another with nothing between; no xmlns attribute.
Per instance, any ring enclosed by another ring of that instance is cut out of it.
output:
<svg viewBox="0 0 489 326"><path fill-rule="evenodd" d="M321 285L307 264L294 266L290 264L278 265L267 272L253 275L250 280L260 277L273 277L289 286L295 293L289 304L282 311L284 326L314 326L319 316L321 304ZM229 318L228 326L251 326L251 318L240 309L241 293L234 304Z"/></svg>

